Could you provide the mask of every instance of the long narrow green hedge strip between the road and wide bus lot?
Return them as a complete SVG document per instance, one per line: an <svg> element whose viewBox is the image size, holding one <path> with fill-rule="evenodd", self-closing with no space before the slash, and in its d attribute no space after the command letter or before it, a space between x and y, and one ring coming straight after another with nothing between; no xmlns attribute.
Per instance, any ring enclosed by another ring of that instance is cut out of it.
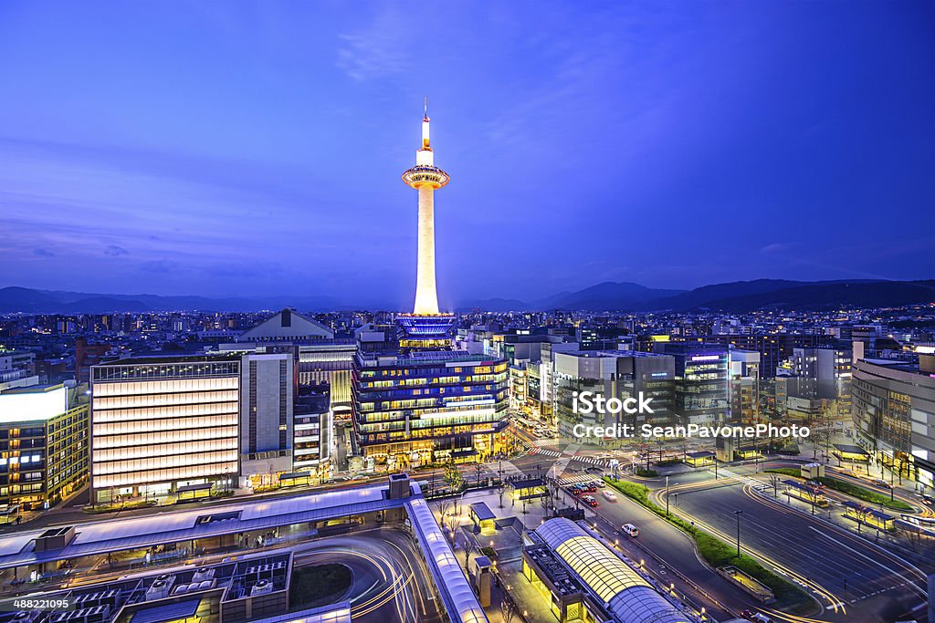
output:
<svg viewBox="0 0 935 623"><path fill-rule="evenodd" d="M737 550L731 545L727 545L717 537L695 527L682 517L677 517L672 514L669 514L669 517L667 517L665 508L650 501L648 489L644 485L626 482L626 480L614 481L610 478L605 478L605 480L611 487L616 488L626 495L626 497L645 506L659 517L666 519L670 524L692 537L695 541L695 545L698 546L698 553L712 567L723 567L728 564L734 565L743 573L753 577L763 586L770 588L776 600L784 605L803 602L808 599L804 591L776 573L772 573L755 559L746 554L741 554L740 558L738 558Z"/></svg>

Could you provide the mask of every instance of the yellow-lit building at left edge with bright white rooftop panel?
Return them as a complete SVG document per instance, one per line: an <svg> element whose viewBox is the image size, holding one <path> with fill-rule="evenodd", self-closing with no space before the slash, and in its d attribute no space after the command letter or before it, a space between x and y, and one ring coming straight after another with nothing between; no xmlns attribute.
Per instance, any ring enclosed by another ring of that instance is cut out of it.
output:
<svg viewBox="0 0 935 623"><path fill-rule="evenodd" d="M68 382L0 392L0 504L48 508L87 482L86 390Z"/></svg>

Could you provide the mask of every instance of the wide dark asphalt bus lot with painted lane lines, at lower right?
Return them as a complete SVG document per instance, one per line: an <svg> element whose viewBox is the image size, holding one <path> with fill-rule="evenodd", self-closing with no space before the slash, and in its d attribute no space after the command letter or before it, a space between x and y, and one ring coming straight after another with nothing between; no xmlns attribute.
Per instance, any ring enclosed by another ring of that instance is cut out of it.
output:
<svg viewBox="0 0 935 623"><path fill-rule="evenodd" d="M892 621L924 600L925 573L935 564L920 570L884 547L777 503L771 492L755 490L758 481L750 475L722 469L720 476L672 476L672 512L735 543L735 511L741 511L741 549L812 588L825 617ZM666 494L666 488L656 489L654 501L665 505Z"/></svg>

